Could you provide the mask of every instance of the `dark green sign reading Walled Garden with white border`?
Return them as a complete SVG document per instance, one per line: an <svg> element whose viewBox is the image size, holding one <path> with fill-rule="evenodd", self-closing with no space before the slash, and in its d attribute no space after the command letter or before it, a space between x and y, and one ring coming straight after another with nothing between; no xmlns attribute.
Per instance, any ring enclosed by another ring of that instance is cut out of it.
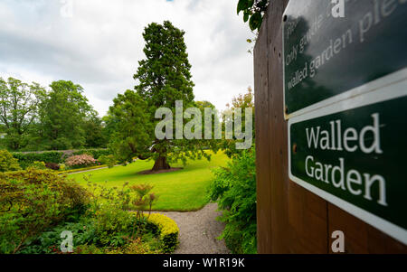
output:
<svg viewBox="0 0 407 272"><path fill-rule="evenodd" d="M289 174L407 244L407 80L399 75L404 79L381 89L290 118Z"/></svg>

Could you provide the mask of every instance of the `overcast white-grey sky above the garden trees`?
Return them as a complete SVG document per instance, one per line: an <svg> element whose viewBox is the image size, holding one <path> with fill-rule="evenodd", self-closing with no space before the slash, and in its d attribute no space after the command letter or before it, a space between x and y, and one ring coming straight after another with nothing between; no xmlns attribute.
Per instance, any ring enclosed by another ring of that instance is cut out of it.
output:
<svg viewBox="0 0 407 272"><path fill-rule="evenodd" d="M103 116L134 89L144 28L169 20L185 31L196 100L223 109L253 86L253 35L237 0L71 0L72 9L69 1L0 0L0 77L47 88L71 80Z"/></svg>

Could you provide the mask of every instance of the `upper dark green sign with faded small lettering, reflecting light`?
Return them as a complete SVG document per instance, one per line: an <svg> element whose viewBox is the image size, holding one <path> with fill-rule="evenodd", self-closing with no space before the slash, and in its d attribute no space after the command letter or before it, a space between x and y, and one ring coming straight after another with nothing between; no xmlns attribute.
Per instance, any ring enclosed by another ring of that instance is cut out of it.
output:
<svg viewBox="0 0 407 272"><path fill-rule="evenodd" d="M343 18L331 2L291 0L284 14L287 118L371 91L362 86L407 67L407 1L345 1Z"/></svg>

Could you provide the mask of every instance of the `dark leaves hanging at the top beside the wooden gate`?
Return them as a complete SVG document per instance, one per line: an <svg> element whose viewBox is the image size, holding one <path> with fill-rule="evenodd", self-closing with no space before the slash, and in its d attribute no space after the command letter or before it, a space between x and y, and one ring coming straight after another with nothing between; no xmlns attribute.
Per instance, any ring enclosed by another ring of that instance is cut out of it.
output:
<svg viewBox="0 0 407 272"><path fill-rule="evenodd" d="M260 30L269 3L270 0L239 0L237 13L243 12L243 20L245 23L249 21L251 31Z"/></svg>

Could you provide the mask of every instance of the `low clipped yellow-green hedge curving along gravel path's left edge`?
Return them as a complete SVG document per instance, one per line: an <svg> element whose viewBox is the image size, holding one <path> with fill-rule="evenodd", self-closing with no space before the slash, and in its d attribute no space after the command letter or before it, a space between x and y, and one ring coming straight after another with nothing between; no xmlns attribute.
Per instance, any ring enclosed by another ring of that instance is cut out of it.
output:
<svg viewBox="0 0 407 272"><path fill-rule="evenodd" d="M174 252L176 246L178 245L179 234L179 229L175 223L175 220L172 220L159 213L152 213L149 216L145 216L147 217L148 223L156 226L157 230L159 231L160 240L164 244L164 252Z"/></svg>

